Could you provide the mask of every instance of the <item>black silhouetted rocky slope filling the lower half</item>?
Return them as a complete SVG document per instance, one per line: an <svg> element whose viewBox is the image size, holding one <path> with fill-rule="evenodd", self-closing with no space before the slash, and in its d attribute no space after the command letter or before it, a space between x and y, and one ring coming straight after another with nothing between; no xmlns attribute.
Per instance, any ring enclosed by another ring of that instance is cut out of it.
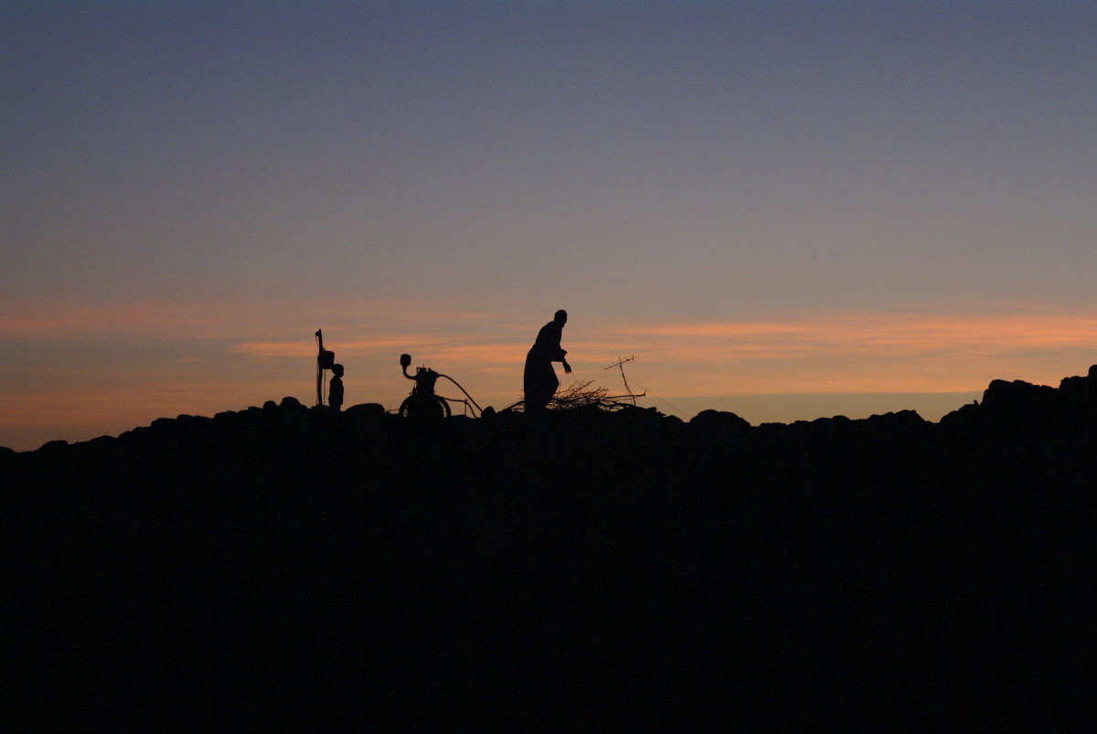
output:
<svg viewBox="0 0 1097 734"><path fill-rule="evenodd" d="M1097 373L940 424L287 398L4 453L8 719L1092 722L1095 447Z"/></svg>

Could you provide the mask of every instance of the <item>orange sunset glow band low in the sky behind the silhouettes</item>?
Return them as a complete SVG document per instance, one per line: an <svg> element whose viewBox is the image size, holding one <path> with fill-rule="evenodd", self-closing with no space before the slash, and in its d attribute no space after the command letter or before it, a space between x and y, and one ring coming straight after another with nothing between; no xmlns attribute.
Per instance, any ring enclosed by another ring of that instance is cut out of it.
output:
<svg viewBox="0 0 1097 734"><path fill-rule="evenodd" d="M87 440L161 416L213 415L284 396L312 405L313 334L325 325L314 326L316 313L298 306L55 308L29 321L9 312L0 321L9 346L34 346L5 360L0 445L34 448L20 437L47 431ZM325 346L347 366L348 404L389 409L410 389L397 362L403 352L460 381L482 405L512 403L525 351L547 320L475 308L436 313L426 302L343 306L340 313L373 312L366 326L325 328ZM60 357L41 363L26 354L41 345ZM127 347L121 354L118 345ZM563 385L591 381L611 393L621 392L620 375L603 368L629 354L636 358L625 366L630 383L656 397L981 392L994 379L1055 385L1084 374L1097 361L1097 314L829 313L651 325L573 315L564 347L575 374L557 368Z"/></svg>

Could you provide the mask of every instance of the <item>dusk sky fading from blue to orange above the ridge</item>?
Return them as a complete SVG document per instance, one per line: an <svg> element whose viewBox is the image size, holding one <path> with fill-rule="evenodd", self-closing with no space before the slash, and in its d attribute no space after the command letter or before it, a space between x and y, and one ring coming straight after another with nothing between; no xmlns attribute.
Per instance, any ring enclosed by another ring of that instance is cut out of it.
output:
<svg viewBox="0 0 1097 734"><path fill-rule="evenodd" d="M0 445L399 355L688 419L1097 362L1097 3L0 2ZM442 389L448 396L457 391ZM462 408L456 406L457 411Z"/></svg>

